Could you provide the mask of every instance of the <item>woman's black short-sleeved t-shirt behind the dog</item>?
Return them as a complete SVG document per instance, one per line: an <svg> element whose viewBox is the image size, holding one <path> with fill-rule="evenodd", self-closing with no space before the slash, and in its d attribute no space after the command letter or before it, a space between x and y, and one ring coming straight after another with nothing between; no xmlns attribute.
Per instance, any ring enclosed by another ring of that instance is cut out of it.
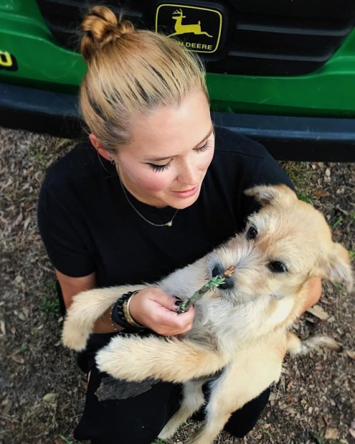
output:
<svg viewBox="0 0 355 444"><path fill-rule="evenodd" d="M133 210L116 168L87 142L48 170L38 203L40 234L53 266L67 276L95 272L98 286L153 282L241 230L256 209L243 191L261 183L292 187L263 146L217 128L214 158L197 201L178 211L172 227L155 227ZM175 212L128 195L155 224Z"/></svg>

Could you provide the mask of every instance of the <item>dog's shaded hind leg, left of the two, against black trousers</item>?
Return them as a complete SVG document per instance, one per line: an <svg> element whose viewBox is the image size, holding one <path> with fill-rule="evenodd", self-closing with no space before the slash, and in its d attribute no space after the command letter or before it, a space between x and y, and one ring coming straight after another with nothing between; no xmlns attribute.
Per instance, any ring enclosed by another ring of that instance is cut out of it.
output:
<svg viewBox="0 0 355 444"><path fill-rule="evenodd" d="M204 396L202 393L201 381L187 381L183 387L183 399L180 409L170 418L166 426L159 433L158 438L168 439L178 430L181 424L185 423L188 418L204 404Z"/></svg>

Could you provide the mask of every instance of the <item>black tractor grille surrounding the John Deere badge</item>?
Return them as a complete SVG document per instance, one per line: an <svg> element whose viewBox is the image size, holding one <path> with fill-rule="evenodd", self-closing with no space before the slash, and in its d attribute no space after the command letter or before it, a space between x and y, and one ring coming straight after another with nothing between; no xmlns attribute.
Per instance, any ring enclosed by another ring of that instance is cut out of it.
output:
<svg viewBox="0 0 355 444"><path fill-rule="evenodd" d="M118 4L121 4L119 9ZM354 0L102 1L140 28L153 28L158 4L188 4L224 13L219 50L203 55L208 72L244 75L302 75L332 57L354 29ZM95 2L94 2L95 4ZM38 0L53 36L77 48L76 30L90 3L85 0Z"/></svg>

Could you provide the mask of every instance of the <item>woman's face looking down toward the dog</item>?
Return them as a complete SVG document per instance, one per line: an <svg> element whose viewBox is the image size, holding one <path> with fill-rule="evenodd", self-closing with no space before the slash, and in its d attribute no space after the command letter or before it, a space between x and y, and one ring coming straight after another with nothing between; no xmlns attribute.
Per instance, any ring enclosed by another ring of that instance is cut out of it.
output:
<svg viewBox="0 0 355 444"><path fill-rule="evenodd" d="M159 108L137 119L131 134L114 157L127 190L155 207L192 205L214 153L205 95L195 92L179 108Z"/></svg>

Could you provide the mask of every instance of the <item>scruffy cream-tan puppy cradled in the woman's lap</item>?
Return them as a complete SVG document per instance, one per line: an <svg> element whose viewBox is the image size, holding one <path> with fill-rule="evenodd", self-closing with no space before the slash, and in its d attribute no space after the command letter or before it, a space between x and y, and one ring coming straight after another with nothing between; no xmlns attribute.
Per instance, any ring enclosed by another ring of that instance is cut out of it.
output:
<svg viewBox="0 0 355 444"><path fill-rule="evenodd" d="M181 337L114 337L97 354L97 364L126 381L148 378L184 383L178 413L159 437L169 438L202 404L202 384L211 379L206 419L187 443L209 444L230 414L278 381L286 352L318 345L337 348L327 337L301 342L289 331L307 298L313 276L352 286L349 254L324 217L285 185L246 190L261 210L244 233L155 286L171 296L192 296L212 275L236 271L197 304L192 330ZM94 322L118 295L142 286L97 288L75 297L64 324L67 347L84 349Z"/></svg>

